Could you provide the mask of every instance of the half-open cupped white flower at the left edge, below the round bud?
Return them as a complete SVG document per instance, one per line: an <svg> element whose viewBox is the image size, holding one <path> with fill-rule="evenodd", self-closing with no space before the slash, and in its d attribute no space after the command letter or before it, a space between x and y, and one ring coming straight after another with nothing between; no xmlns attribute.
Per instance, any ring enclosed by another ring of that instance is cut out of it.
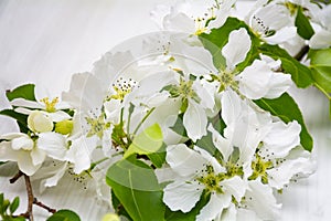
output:
<svg viewBox="0 0 331 221"><path fill-rule="evenodd" d="M25 134L8 134L0 137L0 160L17 161L19 169L32 176L45 159L45 152Z"/></svg>

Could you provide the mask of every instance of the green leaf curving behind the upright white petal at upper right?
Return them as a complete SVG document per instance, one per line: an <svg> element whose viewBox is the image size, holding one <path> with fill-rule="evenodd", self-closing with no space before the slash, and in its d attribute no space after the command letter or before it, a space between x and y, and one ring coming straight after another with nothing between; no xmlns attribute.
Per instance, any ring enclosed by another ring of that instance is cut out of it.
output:
<svg viewBox="0 0 331 221"><path fill-rule="evenodd" d="M209 50L213 56L213 63L215 67L225 70L226 62L222 55L223 46L228 42L228 35L232 31L245 28L252 40L252 48L247 53L246 60L237 65L237 71L244 70L247 65L258 57L257 45L259 45L259 39L250 31L249 27L236 18L228 18L224 25L218 29L213 29L211 33L203 33L199 38L204 48Z"/></svg>

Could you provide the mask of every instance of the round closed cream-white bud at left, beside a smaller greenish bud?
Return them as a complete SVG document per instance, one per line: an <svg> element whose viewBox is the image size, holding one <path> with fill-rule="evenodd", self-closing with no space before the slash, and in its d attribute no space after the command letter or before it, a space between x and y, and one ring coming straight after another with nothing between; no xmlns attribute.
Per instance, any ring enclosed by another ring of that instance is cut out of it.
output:
<svg viewBox="0 0 331 221"><path fill-rule="evenodd" d="M53 130L53 122L51 118L43 112L34 110L28 117L28 127L32 131L45 133Z"/></svg>

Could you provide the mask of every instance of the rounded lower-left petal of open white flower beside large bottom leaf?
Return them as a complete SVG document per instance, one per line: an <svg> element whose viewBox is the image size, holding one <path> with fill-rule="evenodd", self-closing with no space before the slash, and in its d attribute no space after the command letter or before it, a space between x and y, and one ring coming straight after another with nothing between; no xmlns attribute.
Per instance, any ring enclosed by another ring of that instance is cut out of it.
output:
<svg viewBox="0 0 331 221"><path fill-rule="evenodd" d="M163 202L172 211L191 211L199 201L203 188L197 182L186 182L178 180L164 188Z"/></svg>

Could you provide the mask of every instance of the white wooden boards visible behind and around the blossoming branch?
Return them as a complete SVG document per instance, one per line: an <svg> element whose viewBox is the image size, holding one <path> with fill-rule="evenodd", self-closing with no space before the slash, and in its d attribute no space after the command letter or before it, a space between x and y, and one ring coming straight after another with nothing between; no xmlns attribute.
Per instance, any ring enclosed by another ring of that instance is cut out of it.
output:
<svg viewBox="0 0 331 221"><path fill-rule="evenodd" d="M8 107L4 90L23 83L35 83L54 96L66 91L71 75L89 71L102 54L137 34L157 31L149 11L157 3L173 0L0 0L0 108ZM241 14L252 1L239 2ZM284 191L281 220L331 220L331 125L328 104L316 90L292 94L314 137L313 156L317 172ZM14 124L0 116L0 134L14 131ZM12 199L21 196L25 208L23 180L9 185L15 168L0 170L0 192ZM38 192L35 188L35 192ZM56 188L38 196L54 208L77 211L83 221L100 220L107 206L96 200L95 192L65 178ZM36 220L45 220L35 209Z"/></svg>

